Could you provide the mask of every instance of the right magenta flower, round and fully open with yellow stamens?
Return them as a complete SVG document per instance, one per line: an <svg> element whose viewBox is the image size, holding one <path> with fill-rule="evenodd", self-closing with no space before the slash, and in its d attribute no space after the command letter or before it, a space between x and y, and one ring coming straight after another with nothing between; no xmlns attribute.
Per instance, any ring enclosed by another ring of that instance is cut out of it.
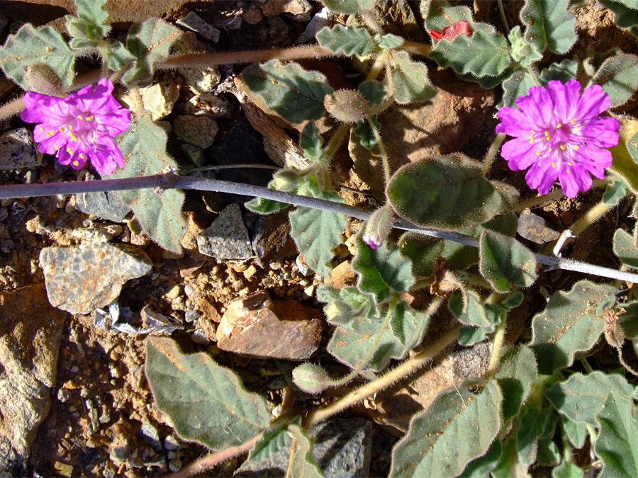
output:
<svg viewBox="0 0 638 478"><path fill-rule="evenodd" d="M620 121L600 116L611 106L600 85L589 86L581 96L578 81L553 80L547 88L532 86L516 104L520 109L500 108L496 132L514 137L500 154L513 171L530 168L525 175L530 188L547 194L558 179L565 195L575 198L591 188L589 173L605 177L612 164L605 148L618 144Z"/></svg>

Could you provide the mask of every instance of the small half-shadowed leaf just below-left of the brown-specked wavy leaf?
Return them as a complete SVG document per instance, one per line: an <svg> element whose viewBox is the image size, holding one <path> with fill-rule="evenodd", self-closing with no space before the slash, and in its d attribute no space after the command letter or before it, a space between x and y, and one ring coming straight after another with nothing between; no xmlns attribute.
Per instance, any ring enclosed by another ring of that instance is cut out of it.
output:
<svg viewBox="0 0 638 478"><path fill-rule="evenodd" d="M503 392L503 420L516 416L530 396L538 377L536 357L532 349L523 346L510 348L500 358L494 378Z"/></svg>

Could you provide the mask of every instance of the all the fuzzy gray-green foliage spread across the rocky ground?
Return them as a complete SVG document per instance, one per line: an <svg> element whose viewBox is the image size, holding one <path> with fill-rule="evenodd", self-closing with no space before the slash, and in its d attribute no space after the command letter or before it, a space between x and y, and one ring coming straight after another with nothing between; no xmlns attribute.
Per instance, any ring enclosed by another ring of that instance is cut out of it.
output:
<svg viewBox="0 0 638 478"><path fill-rule="evenodd" d="M324 3L333 11L367 21L371 16L366 11L375 6L371 0ZM614 11L620 26L637 32L638 9L632 2L603 3ZM69 45L51 28L21 28L0 50L7 76L29 89L25 72L43 63L69 88L77 55L96 53L105 71L132 89L150 79L153 64L167 56L178 31L154 20L135 25L125 43L109 40L104 4L104 0L77 0L77 16L67 18ZM569 8L569 0L527 0L520 12L523 28L513 28L505 38L493 25L474 21L469 8L432 1L425 18L429 30L464 21L471 35L441 38L429 56L440 67L451 67L461 78L481 86L502 84L500 106L513 106L515 98L534 84L532 69L544 55L564 55L576 42L576 21ZM377 116L394 103L426 101L437 90L430 84L427 65L410 57L403 50L403 38L396 35L335 25L320 30L317 40L335 55L368 65L366 79L356 90L335 91L323 73L279 59L254 64L242 76L274 113L290 123L306 123L300 147L310 166L277 172L269 188L341 203L330 182L330 160L339 145L333 140L349 130L350 142L378 148L383 156ZM590 84L600 84L609 93L613 106L621 106L638 89L637 64L635 55L609 53L554 62L538 76L542 84L550 79L566 81L582 69ZM320 133L319 120L328 116L337 124ZM607 205L638 193L638 123L624 118L622 124L611 169L617 176L603 195ZM327 144L324 135L330 136ZM128 162L116 177L146 176L176 167L165 153L165 142L163 130L147 115L135 118L118 137ZM119 195L153 239L179 251L185 230L182 193L142 190ZM495 354L484 377L442 392L413 417L393 450L393 476L501 477L539 465L553 467L554 477L578 477L583 470L574 464L571 450L586 443L602 462L603 475L636 476L637 389L620 373L583 374L570 368L576 358L586 363L584 354L602 336L619 349L625 338L634 343L638 302L619 303L616 288L582 280L569 292L556 292L533 317L531 341L499 353L508 314L522 304L525 289L537 279L535 254L514 238L517 217L511 211L518 202L517 190L486 178L480 162L454 154L432 156L393 171L385 200L401 220L465 234L478 247L406 232L396 244L384 237L381 246L371 249L362 229L354 239L356 285L318 288L318 300L325 303L325 316L334 326L328 352L355 372L363 368L381 372L391 360L404 359L420 344L436 306L447 300L449 314L461 324L459 343L472 346L493 339ZM247 207L270 214L287 205L257 198ZM638 217L636 207L634 215ZM296 207L289 220L308 264L321 275L330 275L346 217ZM614 251L627 267L638 267L634 240L622 229L615 234ZM444 299L433 299L424 311L412 299L430 276L432 290ZM339 382L313 364L296 370L297 385L311 392ZM293 475L320 476L301 417L292 414L284 421L272 421L264 399L247 392L232 371L208 355L184 355L174 341L152 338L147 341L146 371L157 406L186 440L222 450L257 437L248 460L262 460L288 447Z"/></svg>

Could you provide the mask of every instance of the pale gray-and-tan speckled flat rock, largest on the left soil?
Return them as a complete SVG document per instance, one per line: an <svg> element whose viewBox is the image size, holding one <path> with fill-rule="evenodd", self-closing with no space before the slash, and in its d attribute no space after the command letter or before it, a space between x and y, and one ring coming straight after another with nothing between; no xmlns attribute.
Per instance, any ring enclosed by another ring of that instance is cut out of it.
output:
<svg viewBox="0 0 638 478"><path fill-rule="evenodd" d="M116 300L122 285L151 271L150 259L128 244L85 242L40 251L49 302L72 314L88 314Z"/></svg>

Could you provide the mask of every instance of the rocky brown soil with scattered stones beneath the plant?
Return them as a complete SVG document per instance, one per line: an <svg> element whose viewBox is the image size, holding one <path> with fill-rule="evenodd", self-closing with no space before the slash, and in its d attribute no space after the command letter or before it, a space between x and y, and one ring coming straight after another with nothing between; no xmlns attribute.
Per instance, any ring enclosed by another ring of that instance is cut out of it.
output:
<svg viewBox="0 0 638 478"><path fill-rule="evenodd" d="M60 28L61 18L74 11L70 0L48 1L48 6L32 1L28 8L24 4L30 1L0 5L3 41L25 21ZM395 5L387 18L391 28L425 40L407 2L380 3ZM478 14L493 16L488 2L476 3ZM194 17L186 18L196 13L205 26L186 35L177 52L292 45L318 11L317 4L306 0L113 0L107 6L118 31L154 16L192 26ZM509 7L514 11L515 6ZM593 8L579 21L583 38L592 38L595 33L588 28L610 20ZM597 41L625 41L608 36ZM237 92L233 77L240 71L211 67L166 72L143 93L155 119L171 131L169 152L184 168L247 162L276 167L286 161L285 154L272 149L281 140L281 128L263 127L254 107L251 110ZM347 81L344 72L337 73L335 81ZM388 143L395 166L461 148L478 158L491 140L497 99L493 92L447 72L432 73L432 81L445 86L435 101L396 108L381 118L387 137L405 133L405 142L412 145ZM18 93L0 76L0 101ZM0 125L0 183L76 180L76 171L38 154L26 126L18 118ZM365 151L351 154L355 164L366 163ZM334 174L337 183L365 190L365 195L345 190L349 203L374 204L379 184L362 167L359 176L352 173L346 151ZM264 185L271 175L268 169L244 168L219 171L216 177ZM494 177L524 184L523 176L504 164ZM561 230L597 199L593 196L552 203L537 213L550 229ZM149 334L170 334L184 351L206 351L232 367L248 389L269 399L274 414L281 411L284 396L293 393L289 377L296 360L312 356L331 363L322 348L330 331L313 295L323 281L343 285L353 280L350 241L337 251L333 275L323 278L298 256L285 214L257 217L240 206L243 200L189 193L189 229L181 256L153 244L128 209L104 195L0 203L0 470L40 476L163 476L206 454L199 445L182 443L153 402L144 372ZM352 222L345 239L358 227ZM615 266L611 248L600 246L600 238L610 241L608 231L614 227L615 217L605 218L583 235L572 257ZM547 284L566 288L570 280L556 275ZM257 317L265 325L247 329ZM296 320L280 320L289 317ZM522 315L520 325L513 327L519 334L525 320ZM386 474L391 445L410 414L439 389L480 372L487 356L481 346L449 353L409 389L388 390L383 399L371 399L349 412L348 420L316 430L325 436L319 442L343 452L336 458L325 452L325 470L370 466L370 474ZM601 352L600 360L605 357ZM330 366L345 371L334 362ZM313 404L310 397L297 399ZM335 436L341 441L330 441ZM228 476L241 464L242 459L230 460L213 473ZM254 470L241 470L240 476L254 476Z"/></svg>

